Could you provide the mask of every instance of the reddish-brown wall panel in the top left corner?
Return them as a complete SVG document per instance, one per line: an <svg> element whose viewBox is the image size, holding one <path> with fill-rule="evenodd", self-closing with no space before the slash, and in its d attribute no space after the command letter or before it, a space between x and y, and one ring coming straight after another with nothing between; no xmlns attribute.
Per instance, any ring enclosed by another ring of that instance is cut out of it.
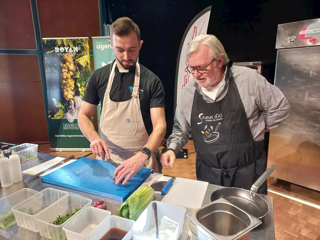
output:
<svg viewBox="0 0 320 240"><path fill-rule="evenodd" d="M36 50L30 0L0 1L0 49Z"/></svg>

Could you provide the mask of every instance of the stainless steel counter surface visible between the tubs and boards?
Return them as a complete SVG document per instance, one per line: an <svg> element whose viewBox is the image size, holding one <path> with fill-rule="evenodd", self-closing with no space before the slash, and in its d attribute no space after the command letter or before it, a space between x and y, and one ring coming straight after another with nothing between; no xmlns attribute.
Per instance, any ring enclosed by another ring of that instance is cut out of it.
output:
<svg viewBox="0 0 320 240"><path fill-rule="evenodd" d="M21 163L21 169L22 169L22 171L24 171L28 168L31 168L33 166L36 166L36 165L41 164L43 162L46 162L54 157L56 157L56 156L50 155L50 154L38 153L37 157L29 159L29 160ZM63 188L60 186L41 182L40 178L36 178L36 179L30 180L30 181L27 181L27 183L25 183L24 180L27 180L28 178L30 178L30 175L23 174L22 177L23 177L23 181L21 181L19 183L14 183L12 186L10 186L8 188L0 188L0 198L2 198L4 196L8 196L8 195L10 195L10 194L22 189L22 188L31 188L36 191L41 191L44 188L51 187L51 188L56 188L56 189L68 191L69 193L74 194L74 195L84 196L84 197L90 198L90 199L92 199L92 203L101 199L100 196L95 196L92 194L87 194L84 192L79 192L76 190ZM173 179L175 179L175 178L173 178ZM205 193L205 197L204 197L204 201L203 201L202 205L210 203L210 196L211 196L212 192L214 192L215 190L217 190L219 188L221 188L221 186L209 184L207 191ZM269 210L268 215L266 216L265 220L263 221L263 223L250 232L250 235L248 238L249 240L253 240L253 239L274 240L275 239L272 197L265 196L265 195L262 195L262 197L264 199L266 199L266 201L268 202L270 210ZM161 201L162 196L155 195L155 200ZM109 210L112 214L117 215L118 214L117 208L118 208L118 206L121 205L121 202L111 200L111 199L106 199L106 205L107 205L107 210ZM193 211L193 210L187 209L187 213L191 212L191 211ZM191 236L192 240L197 239L197 237L194 236L189 229L187 218L185 218L183 230L188 232L188 234ZM6 228L6 229L0 228L0 239L1 240L40 240L40 239L46 240L47 238L41 237L39 233L35 233L35 232L29 231L25 228L18 227L17 223L15 223L9 228Z"/></svg>

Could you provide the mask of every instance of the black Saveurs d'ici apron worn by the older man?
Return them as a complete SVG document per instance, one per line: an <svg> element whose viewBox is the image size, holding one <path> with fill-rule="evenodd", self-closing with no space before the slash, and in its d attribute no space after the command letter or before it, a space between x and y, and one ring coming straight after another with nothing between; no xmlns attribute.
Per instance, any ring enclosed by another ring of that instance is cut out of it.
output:
<svg viewBox="0 0 320 240"><path fill-rule="evenodd" d="M264 141L254 141L230 67L226 96L207 103L196 90L191 111L191 134L196 149L197 180L250 190L266 171ZM267 181L258 189L267 195Z"/></svg>

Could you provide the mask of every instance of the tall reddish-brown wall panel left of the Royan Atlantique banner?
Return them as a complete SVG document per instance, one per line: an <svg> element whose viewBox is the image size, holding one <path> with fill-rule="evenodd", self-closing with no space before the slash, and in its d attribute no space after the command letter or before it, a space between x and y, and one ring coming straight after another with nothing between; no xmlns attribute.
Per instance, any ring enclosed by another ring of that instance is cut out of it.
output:
<svg viewBox="0 0 320 240"><path fill-rule="evenodd" d="M48 141L37 55L0 54L0 139Z"/></svg>

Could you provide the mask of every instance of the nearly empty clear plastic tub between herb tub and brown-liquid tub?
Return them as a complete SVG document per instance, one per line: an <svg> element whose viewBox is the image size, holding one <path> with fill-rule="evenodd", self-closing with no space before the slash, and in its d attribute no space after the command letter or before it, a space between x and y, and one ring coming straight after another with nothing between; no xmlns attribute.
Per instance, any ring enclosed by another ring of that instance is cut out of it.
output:
<svg viewBox="0 0 320 240"><path fill-rule="evenodd" d="M110 215L110 211L91 206L86 207L67 222L62 229L68 240L87 240L93 229Z"/></svg>

